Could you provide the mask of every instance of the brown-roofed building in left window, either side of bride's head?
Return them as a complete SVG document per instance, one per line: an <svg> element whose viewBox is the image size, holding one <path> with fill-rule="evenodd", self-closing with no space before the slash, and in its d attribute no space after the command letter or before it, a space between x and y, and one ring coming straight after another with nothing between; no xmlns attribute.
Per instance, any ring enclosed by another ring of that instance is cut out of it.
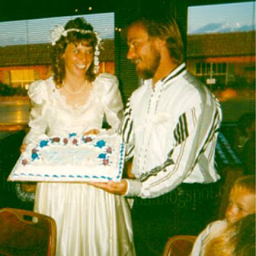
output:
<svg viewBox="0 0 256 256"><path fill-rule="evenodd" d="M51 75L50 44L0 47L0 83L27 88ZM100 72L114 74L114 40L102 41Z"/></svg>

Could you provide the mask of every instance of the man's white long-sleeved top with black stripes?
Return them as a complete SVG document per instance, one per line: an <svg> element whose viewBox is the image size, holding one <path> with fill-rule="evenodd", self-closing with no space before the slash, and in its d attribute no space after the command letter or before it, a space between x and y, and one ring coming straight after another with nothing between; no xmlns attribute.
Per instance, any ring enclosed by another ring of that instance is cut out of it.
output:
<svg viewBox="0 0 256 256"><path fill-rule="evenodd" d="M152 80L135 90L122 126L127 158L134 157L127 196L155 198L182 182L208 183L219 178L214 152L222 111L185 63L154 89Z"/></svg>

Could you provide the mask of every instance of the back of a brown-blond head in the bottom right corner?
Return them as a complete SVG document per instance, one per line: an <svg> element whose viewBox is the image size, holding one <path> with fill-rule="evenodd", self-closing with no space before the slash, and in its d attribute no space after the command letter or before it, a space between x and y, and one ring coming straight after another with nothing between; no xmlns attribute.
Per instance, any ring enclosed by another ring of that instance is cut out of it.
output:
<svg viewBox="0 0 256 256"><path fill-rule="evenodd" d="M249 214L208 242L204 255L255 256L255 252L255 214Z"/></svg>

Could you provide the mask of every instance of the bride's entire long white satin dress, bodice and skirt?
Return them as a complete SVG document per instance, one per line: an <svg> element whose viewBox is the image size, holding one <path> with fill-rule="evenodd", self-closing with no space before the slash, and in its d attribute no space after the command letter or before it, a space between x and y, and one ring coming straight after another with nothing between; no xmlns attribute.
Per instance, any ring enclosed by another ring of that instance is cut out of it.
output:
<svg viewBox="0 0 256 256"><path fill-rule="evenodd" d="M40 134L64 136L102 128L104 116L113 129L122 119L118 80L100 74L84 106L73 108L59 94L52 78L30 85L30 132L25 143ZM34 211L57 223L57 255L134 255L130 205L126 198L85 183L38 182Z"/></svg>

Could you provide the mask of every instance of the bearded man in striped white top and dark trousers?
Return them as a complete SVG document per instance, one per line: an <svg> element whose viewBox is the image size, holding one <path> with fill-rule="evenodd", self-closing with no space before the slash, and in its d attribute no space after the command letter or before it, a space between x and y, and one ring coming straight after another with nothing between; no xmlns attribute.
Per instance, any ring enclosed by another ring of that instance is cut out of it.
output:
<svg viewBox="0 0 256 256"><path fill-rule="evenodd" d="M122 126L127 158L133 158L130 178L90 184L135 198L137 254L158 255L175 234L178 201L170 202L170 193L190 198L219 179L214 150L222 111L186 71L180 31L169 14L138 18L128 26L127 42L127 58L144 80L130 97ZM178 216L184 226L194 221L186 214L190 207Z"/></svg>

